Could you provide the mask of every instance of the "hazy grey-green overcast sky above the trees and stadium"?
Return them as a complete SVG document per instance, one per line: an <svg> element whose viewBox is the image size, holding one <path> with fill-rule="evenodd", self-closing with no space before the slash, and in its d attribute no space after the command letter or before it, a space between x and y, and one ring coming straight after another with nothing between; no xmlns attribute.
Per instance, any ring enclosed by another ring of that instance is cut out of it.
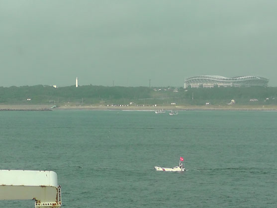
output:
<svg viewBox="0 0 277 208"><path fill-rule="evenodd" d="M0 86L277 86L277 0L0 0Z"/></svg>

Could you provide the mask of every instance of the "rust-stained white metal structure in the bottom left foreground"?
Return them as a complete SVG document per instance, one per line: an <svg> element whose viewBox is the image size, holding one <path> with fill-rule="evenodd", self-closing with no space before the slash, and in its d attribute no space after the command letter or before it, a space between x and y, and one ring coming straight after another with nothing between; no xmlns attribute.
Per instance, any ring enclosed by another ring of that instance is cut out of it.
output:
<svg viewBox="0 0 277 208"><path fill-rule="evenodd" d="M0 170L0 200L35 200L35 208L60 208L61 187L53 171Z"/></svg>

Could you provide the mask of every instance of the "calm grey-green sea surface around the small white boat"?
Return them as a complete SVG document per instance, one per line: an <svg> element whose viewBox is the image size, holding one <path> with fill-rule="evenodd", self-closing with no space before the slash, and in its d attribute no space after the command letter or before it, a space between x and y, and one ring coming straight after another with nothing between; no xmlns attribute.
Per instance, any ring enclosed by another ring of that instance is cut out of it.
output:
<svg viewBox="0 0 277 208"><path fill-rule="evenodd" d="M0 111L0 158L55 171L65 208L277 207L275 111Z"/></svg>

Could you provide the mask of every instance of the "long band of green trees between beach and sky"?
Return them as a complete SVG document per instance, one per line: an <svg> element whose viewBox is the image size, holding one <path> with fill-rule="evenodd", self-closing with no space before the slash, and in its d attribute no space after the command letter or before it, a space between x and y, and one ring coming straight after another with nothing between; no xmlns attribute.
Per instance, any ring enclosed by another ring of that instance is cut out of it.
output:
<svg viewBox="0 0 277 208"><path fill-rule="evenodd" d="M156 90L161 89L161 90ZM276 87L249 88L149 88L75 86L54 88L52 86L0 87L0 104L226 104L235 100L238 104L277 104ZM31 100L30 100L31 99ZM250 101L255 99L255 101ZM257 101L258 100L258 101Z"/></svg>

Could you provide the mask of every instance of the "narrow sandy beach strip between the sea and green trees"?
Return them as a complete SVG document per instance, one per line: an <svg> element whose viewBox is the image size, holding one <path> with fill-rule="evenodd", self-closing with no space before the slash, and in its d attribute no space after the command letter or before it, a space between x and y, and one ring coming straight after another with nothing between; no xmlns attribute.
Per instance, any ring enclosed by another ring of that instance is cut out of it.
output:
<svg viewBox="0 0 277 208"><path fill-rule="evenodd" d="M103 106L103 105L53 105L45 104L0 104L0 111L55 111L55 110L124 110L155 111L164 110L263 110L277 111L277 105L174 105L174 106Z"/></svg>

